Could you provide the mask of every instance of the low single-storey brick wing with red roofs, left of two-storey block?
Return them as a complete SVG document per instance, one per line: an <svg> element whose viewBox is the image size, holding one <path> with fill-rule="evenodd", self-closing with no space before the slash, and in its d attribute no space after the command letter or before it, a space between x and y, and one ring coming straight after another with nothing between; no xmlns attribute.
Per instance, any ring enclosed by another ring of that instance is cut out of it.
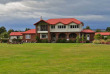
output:
<svg viewBox="0 0 110 74"><path fill-rule="evenodd" d="M9 41L13 39L22 39L23 42L35 42L36 41L36 30L31 29L25 32L11 32Z"/></svg>

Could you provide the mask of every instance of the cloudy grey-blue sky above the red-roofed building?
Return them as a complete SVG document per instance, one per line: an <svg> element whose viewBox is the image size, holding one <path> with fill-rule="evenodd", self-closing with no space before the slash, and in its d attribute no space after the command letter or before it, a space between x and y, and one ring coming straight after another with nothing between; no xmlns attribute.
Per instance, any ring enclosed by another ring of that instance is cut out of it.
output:
<svg viewBox="0 0 110 74"><path fill-rule="evenodd" d="M51 18L76 18L91 29L110 27L110 0L0 0L0 26L34 29Z"/></svg>

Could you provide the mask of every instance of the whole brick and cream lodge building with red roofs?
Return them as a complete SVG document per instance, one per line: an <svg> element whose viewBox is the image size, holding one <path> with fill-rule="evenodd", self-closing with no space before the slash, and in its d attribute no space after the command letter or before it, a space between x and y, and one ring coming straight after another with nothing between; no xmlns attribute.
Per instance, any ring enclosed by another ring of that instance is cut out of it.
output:
<svg viewBox="0 0 110 74"><path fill-rule="evenodd" d="M35 29L26 32L10 33L10 41L21 38L24 42L35 42L38 36L42 40L56 42L58 39L75 40L82 35L87 36L88 41L93 41L95 35L94 31L83 29L84 24L75 18L41 19L34 26Z"/></svg>

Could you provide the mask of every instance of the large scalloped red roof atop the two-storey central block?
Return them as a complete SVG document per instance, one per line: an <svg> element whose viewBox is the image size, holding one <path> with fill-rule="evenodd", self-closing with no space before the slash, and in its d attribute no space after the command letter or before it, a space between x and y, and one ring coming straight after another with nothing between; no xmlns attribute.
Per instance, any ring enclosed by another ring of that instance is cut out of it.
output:
<svg viewBox="0 0 110 74"><path fill-rule="evenodd" d="M75 18L58 18L58 19L48 19L46 21L45 20L40 20L40 21L44 21L50 25L56 25L57 23L63 23L65 25L67 25L67 24L70 24L72 22L76 23L76 24L82 24L82 22L80 22L79 20L77 20ZM37 22L37 23L39 23L39 22ZM37 23L35 23L35 24L37 24Z"/></svg>

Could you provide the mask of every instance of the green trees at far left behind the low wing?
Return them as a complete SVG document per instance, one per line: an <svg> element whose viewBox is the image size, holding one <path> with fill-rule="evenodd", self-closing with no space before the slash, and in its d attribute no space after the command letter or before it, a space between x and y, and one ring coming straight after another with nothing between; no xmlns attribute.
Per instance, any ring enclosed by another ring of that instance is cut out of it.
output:
<svg viewBox="0 0 110 74"><path fill-rule="evenodd" d="M25 31L30 30L29 28L26 28ZM20 30L14 30L14 29L9 29L6 30L6 28L4 26L0 27L0 39L3 38L9 38L9 35L11 32L23 32Z"/></svg>

